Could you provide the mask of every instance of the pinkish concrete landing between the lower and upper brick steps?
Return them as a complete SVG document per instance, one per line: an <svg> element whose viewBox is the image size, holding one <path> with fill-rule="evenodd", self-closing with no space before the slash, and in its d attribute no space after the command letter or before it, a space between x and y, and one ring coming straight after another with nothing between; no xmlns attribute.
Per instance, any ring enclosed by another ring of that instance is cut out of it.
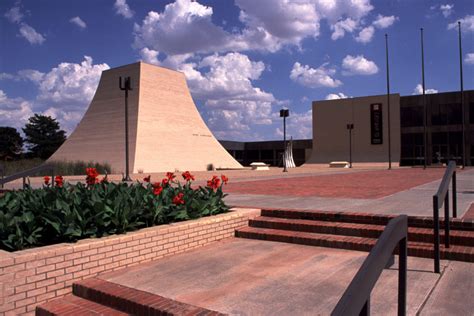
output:
<svg viewBox="0 0 474 316"><path fill-rule="evenodd" d="M329 315L366 256L235 238L100 278L230 315ZM443 261L443 269L450 264ZM372 293L374 315L396 314L397 267L384 270ZM432 260L409 258L408 315L420 312L441 283L432 268Z"/></svg>

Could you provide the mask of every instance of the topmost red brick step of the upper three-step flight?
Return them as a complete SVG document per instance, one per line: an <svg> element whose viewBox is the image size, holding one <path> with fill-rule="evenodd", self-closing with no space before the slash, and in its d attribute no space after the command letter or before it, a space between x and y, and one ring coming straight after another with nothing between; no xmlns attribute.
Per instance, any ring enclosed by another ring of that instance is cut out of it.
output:
<svg viewBox="0 0 474 316"><path fill-rule="evenodd" d="M331 212L331 211L302 211L302 210L277 210L263 209L262 216L305 219L330 222L349 222L358 224L387 225L397 215L355 213L355 212ZM440 216L443 216L440 210ZM444 227L444 219L440 219L440 229ZM408 226L419 228L433 228L432 217L408 216ZM474 231L474 220L451 218L450 227L455 230Z"/></svg>

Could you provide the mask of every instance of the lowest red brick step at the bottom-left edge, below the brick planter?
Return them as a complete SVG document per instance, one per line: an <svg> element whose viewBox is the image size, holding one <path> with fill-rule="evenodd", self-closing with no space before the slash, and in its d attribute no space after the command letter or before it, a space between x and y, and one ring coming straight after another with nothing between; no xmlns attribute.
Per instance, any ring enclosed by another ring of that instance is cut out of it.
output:
<svg viewBox="0 0 474 316"><path fill-rule="evenodd" d="M94 316L110 315L122 316L128 315L116 309L97 304L95 302L74 296L67 295L63 298L53 300L36 307L37 316Z"/></svg>

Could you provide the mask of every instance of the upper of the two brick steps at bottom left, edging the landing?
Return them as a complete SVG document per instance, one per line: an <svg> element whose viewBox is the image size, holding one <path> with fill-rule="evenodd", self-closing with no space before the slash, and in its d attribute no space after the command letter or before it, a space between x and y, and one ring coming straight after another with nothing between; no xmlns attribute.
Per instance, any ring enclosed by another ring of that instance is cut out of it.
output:
<svg viewBox="0 0 474 316"><path fill-rule="evenodd" d="M129 288L99 278L73 284L73 294L133 315L206 315L221 313Z"/></svg>

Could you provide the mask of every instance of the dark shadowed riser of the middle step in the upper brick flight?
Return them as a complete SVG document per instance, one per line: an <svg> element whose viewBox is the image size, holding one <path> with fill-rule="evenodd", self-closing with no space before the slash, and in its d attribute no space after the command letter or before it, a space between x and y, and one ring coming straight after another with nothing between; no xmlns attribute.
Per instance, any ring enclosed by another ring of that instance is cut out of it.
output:
<svg viewBox="0 0 474 316"><path fill-rule="evenodd" d="M323 226L323 225L304 225L294 223L275 223L263 220L249 220L250 227L259 228L270 228L270 229L282 229L288 231L300 231L308 233L319 233L319 234L332 234L332 235L346 235L355 237L366 237L366 238L379 238L383 232L383 229L357 229L350 227L334 227L334 226ZM440 240L444 243L444 231L441 231ZM409 241L419 241L433 243L432 234L423 233L408 233ZM474 238L461 237L461 236L450 236L452 245L470 246L474 247Z"/></svg>

